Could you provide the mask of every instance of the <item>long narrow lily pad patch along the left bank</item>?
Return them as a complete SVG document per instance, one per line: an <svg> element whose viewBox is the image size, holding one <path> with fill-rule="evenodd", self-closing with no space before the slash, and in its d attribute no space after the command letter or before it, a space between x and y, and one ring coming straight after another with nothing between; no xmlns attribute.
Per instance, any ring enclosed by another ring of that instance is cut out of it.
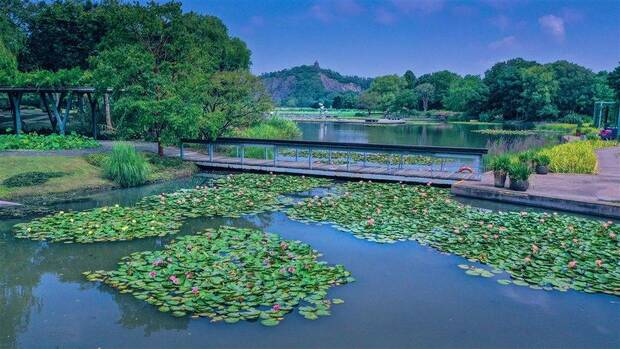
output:
<svg viewBox="0 0 620 349"><path fill-rule="evenodd" d="M183 189L143 198L133 207L60 212L15 225L16 236L52 242L99 242L165 236L190 217L239 217L282 207L279 196L331 183L326 179L241 174L214 187Z"/></svg>

